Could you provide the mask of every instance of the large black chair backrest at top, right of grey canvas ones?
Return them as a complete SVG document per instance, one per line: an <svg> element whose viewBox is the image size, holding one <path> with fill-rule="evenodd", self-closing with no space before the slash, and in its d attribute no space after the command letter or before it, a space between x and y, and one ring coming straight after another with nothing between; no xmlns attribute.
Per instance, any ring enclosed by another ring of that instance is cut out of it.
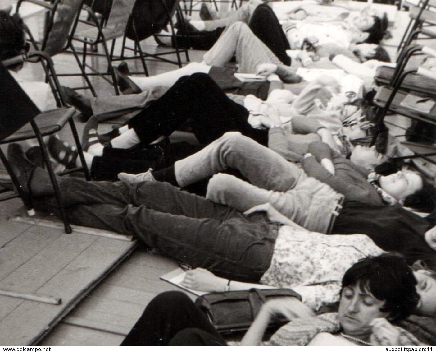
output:
<svg viewBox="0 0 436 352"><path fill-rule="evenodd" d="M134 29L140 41L159 33L170 22L179 3L180 0L136 0L126 37L135 40Z"/></svg>

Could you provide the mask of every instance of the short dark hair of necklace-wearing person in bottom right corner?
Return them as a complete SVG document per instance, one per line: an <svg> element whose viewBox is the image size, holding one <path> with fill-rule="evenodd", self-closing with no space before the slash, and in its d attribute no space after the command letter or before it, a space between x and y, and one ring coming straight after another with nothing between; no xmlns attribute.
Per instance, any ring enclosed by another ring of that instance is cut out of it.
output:
<svg viewBox="0 0 436 352"><path fill-rule="evenodd" d="M416 278L404 258L396 254L369 256L359 260L342 279L345 287L359 285L362 292L370 292L385 301L381 312L388 312L389 321L405 319L419 301ZM341 291L342 294L342 291Z"/></svg>

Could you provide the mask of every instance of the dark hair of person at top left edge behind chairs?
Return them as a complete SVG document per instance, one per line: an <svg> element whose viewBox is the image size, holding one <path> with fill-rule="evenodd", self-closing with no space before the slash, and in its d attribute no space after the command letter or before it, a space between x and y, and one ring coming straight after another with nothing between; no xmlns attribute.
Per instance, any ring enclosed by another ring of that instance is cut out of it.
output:
<svg viewBox="0 0 436 352"><path fill-rule="evenodd" d="M26 49L23 20L18 14L0 11L0 61L19 55Z"/></svg>

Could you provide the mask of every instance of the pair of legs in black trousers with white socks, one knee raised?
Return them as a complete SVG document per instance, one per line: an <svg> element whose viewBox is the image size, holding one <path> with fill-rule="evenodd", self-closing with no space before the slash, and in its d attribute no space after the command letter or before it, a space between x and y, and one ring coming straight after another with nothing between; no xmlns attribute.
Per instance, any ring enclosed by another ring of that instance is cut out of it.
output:
<svg viewBox="0 0 436 352"><path fill-rule="evenodd" d="M187 143L150 143L161 136L171 135L187 120L191 121L195 136L203 144L214 141L227 131L240 131L267 145L268 132L252 128L248 116L248 110L227 97L207 74L184 76L162 97L130 119L129 124L120 129L123 133L111 140L112 147L105 148L103 144L89 140L87 164L93 179L109 180L116 180L120 172L141 173L150 167L162 169L172 165L200 148ZM97 139L95 118L92 117L88 123L89 139ZM95 126L91 128L91 124Z"/></svg>

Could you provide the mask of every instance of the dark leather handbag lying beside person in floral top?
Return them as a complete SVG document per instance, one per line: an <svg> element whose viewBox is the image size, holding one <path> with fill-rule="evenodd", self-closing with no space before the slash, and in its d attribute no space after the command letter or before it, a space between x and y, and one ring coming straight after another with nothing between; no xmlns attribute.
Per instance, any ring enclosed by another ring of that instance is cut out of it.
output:
<svg viewBox="0 0 436 352"><path fill-rule="evenodd" d="M262 305L267 300L279 297L296 297L301 300L301 296L290 289L252 288L243 291L207 293L198 297L195 304L209 317L219 333L229 334L248 330ZM276 319L268 328L279 328L286 322L285 318Z"/></svg>

